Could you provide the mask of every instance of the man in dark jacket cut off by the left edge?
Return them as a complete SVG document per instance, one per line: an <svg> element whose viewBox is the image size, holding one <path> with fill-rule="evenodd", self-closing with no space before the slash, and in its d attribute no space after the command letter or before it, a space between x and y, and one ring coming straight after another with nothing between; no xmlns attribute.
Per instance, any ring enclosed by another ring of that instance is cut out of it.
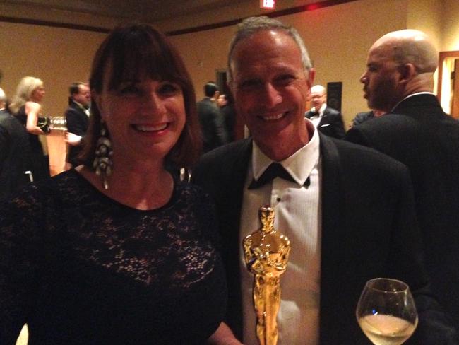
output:
<svg viewBox="0 0 459 345"><path fill-rule="evenodd" d="M5 108L6 95L0 88L0 200L30 182L28 133Z"/></svg>

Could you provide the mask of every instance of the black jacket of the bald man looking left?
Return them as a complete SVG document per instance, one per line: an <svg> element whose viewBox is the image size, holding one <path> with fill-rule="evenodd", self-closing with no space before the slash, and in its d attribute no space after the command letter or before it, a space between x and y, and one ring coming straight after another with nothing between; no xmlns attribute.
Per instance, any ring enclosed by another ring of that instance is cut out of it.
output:
<svg viewBox="0 0 459 345"><path fill-rule="evenodd" d="M459 122L429 94L403 100L393 113L353 127L346 139L410 169L432 286L459 329Z"/></svg>

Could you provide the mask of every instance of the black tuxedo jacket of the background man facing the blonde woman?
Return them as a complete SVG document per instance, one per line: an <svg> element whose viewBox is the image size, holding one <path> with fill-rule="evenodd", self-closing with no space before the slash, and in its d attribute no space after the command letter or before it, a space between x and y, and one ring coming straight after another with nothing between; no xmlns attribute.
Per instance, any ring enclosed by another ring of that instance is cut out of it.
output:
<svg viewBox="0 0 459 345"><path fill-rule="evenodd" d="M84 142L84 136L86 131L88 131L89 126L89 117L86 115L83 109L76 104L73 100L70 101L70 105L66 110L66 122L67 130L70 133L81 136L81 143L78 146L69 146L68 151L68 161L72 163L73 166L79 165L76 157L81 153L81 149Z"/></svg>

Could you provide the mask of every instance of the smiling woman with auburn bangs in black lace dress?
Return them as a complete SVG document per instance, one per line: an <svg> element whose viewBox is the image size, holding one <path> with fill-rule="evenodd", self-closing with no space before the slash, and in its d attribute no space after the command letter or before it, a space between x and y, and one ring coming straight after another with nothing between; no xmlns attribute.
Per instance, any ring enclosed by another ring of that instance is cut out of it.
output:
<svg viewBox="0 0 459 345"><path fill-rule="evenodd" d="M30 344L239 344L213 206L165 168L199 146L177 51L147 25L117 28L90 88L84 164L0 207L0 344L24 322Z"/></svg>

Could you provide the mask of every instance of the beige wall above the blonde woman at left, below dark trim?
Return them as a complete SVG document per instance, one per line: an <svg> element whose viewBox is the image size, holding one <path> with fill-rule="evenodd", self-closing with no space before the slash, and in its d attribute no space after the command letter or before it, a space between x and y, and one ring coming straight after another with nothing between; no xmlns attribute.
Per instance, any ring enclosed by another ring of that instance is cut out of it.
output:
<svg viewBox="0 0 459 345"><path fill-rule="evenodd" d="M9 98L23 76L42 79L44 115L63 115L68 86L87 81L90 64L105 34L39 25L0 23L1 88Z"/></svg>

